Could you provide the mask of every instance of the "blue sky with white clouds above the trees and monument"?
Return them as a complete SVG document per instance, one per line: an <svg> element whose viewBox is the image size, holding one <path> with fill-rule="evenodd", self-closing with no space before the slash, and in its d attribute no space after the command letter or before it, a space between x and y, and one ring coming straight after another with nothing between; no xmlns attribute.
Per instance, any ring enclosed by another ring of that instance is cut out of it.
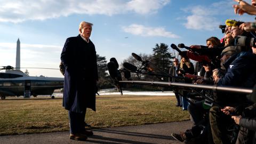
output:
<svg viewBox="0 0 256 144"><path fill-rule="evenodd" d="M223 36L219 25L226 19L254 21L251 15L235 15L232 0L0 2L0 66L15 67L20 38L21 67L58 68L63 44L78 35L81 21L94 24L91 40L97 53L108 61L115 57L119 63L132 52L152 54L157 43L205 45L207 38ZM30 76L62 77L58 70L28 71Z"/></svg>

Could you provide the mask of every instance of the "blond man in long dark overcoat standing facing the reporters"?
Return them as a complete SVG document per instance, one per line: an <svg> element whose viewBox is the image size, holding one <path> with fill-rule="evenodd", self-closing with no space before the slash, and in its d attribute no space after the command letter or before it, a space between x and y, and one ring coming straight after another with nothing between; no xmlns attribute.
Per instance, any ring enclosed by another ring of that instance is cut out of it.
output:
<svg viewBox="0 0 256 144"><path fill-rule="evenodd" d="M93 135L84 128L86 108L95 109L95 87L98 68L95 46L91 36L92 23L82 21L79 35L69 37L61 53L65 66L63 107L68 110L70 139L86 140Z"/></svg>

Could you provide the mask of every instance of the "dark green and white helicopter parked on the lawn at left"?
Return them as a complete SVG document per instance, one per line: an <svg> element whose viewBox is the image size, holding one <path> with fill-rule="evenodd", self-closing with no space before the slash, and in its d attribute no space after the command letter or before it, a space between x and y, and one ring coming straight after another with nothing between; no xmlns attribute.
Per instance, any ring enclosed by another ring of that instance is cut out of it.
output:
<svg viewBox="0 0 256 144"><path fill-rule="evenodd" d="M41 68L53 69L53 68ZM53 91L63 88L64 78L28 76L21 70L12 66L3 66L0 70L0 96L4 100L6 96L21 96L30 98L31 95L50 95L54 99Z"/></svg>

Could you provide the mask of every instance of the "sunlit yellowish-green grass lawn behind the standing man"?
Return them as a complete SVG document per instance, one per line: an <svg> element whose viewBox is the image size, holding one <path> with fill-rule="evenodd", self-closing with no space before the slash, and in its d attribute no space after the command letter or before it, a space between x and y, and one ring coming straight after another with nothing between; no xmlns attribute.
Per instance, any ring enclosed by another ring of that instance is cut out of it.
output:
<svg viewBox="0 0 256 144"><path fill-rule="evenodd" d="M93 128L184 121L188 111L175 107L175 97L100 95L86 123ZM62 99L9 98L0 100L0 135L68 131L68 111Z"/></svg>

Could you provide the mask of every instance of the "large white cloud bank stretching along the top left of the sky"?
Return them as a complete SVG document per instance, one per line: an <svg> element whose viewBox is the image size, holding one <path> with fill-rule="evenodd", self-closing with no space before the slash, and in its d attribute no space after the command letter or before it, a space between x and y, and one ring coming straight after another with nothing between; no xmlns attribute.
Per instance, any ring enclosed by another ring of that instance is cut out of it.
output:
<svg viewBox="0 0 256 144"><path fill-rule="evenodd" d="M45 20L67 17L70 14L148 14L157 12L169 2L170 0L3 0L0 5L0 22Z"/></svg>

